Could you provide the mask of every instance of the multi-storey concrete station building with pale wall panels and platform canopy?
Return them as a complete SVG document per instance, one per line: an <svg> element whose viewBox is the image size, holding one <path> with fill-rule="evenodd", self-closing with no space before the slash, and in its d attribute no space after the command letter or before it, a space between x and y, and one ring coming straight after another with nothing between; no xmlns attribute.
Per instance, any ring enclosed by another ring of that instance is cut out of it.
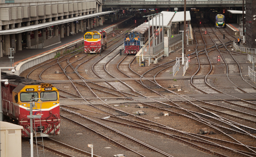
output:
<svg viewBox="0 0 256 157"><path fill-rule="evenodd" d="M23 48L46 48L64 36L103 25L102 0L1 0L0 57ZM12 48L12 49L11 49Z"/></svg>

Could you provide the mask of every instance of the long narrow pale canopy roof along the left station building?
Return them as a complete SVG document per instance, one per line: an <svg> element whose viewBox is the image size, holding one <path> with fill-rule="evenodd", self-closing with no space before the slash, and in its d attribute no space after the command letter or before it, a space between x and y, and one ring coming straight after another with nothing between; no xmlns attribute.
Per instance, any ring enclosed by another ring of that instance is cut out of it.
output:
<svg viewBox="0 0 256 157"><path fill-rule="evenodd" d="M104 14L109 14L109 13L114 13L114 12L116 12L116 11L103 11L103 12L99 12L99 13L83 15L83 16L58 20L58 21L51 21L51 22L47 22L47 23L29 25L29 26L10 29L10 30L1 30L0 35L23 33L23 32L26 32L26 31L34 31L34 30L38 30L38 29L41 29L41 28L50 27L50 26L53 26L53 25L69 23L69 22L73 22L73 21L83 20L83 19L86 19L86 18L101 16L101 15L104 15Z"/></svg>

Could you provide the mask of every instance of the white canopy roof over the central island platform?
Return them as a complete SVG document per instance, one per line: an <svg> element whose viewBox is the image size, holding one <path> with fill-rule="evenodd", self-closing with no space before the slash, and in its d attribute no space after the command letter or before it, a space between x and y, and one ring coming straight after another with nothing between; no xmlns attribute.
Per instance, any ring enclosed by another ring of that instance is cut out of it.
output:
<svg viewBox="0 0 256 157"><path fill-rule="evenodd" d="M174 22L182 22L184 21L184 11L179 11L179 12L172 12L172 11L162 11L161 13L163 13L163 23L162 23L162 16L160 16L160 26L164 26L164 27L170 27L168 24L170 23L170 21ZM153 18L153 25L157 25L159 26L159 16L157 16L157 18ZM190 17L190 12L186 11L186 20L187 21L191 21L191 17ZM152 19L149 21L149 23L147 22L146 25L152 25Z"/></svg>

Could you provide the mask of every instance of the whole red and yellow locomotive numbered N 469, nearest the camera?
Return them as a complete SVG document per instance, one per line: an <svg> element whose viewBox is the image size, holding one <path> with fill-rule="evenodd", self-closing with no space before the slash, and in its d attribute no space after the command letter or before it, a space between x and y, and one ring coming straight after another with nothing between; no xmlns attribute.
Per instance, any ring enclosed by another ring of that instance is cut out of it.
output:
<svg viewBox="0 0 256 157"><path fill-rule="evenodd" d="M60 133L59 91L50 83L43 83L24 77L1 72L3 120L23 126L22 137L30 137L30 106L33 115L33 136L52 136Z"/></svg>

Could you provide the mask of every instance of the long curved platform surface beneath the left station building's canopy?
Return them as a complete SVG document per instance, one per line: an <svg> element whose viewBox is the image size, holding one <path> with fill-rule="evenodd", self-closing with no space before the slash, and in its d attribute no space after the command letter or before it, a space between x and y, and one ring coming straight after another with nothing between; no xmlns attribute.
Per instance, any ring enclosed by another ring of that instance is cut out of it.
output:
<svg viewBox="0 0 256 157"><path fill-rule="evenodd" d="M86 31L90 31L90 30L94 30L94 29L105 29L105 28L108 28L108 27L110 27L112 25L120 23L122 21L125 21L125 20L127 20L127 19L129 19L131 17L133 17L133 16L123 17L123 18L115 20L115 21L113 21L111 23L110 22L104 22L103 25L99 25L97 27L90 28L90 29L88 29ZM65 36L64 38L60 39L61 43L56 44L56 45L52 45L52 46L47 47L47 48L43 48L43 49L41 49L41 48L39 48L39 49L23 48L22 51L16 51L16 53L14 54L14 66L19 64L22 61L26 61L27 59L37 57L37 56L39 56L41 54L44 54L44 53L47 53L47 52L52 51L54 49L63 47L65 45L68 45L68 44L70 44L72 42L75 42L77 40L81 40L81 39L83 39L83 36L86 33L86 31L79 32L77 34L70 35L70 36ZM8 56L4 56L4 57L0 57L0 62L1 61L10 61L10 60L9 60Z"/></svg>

